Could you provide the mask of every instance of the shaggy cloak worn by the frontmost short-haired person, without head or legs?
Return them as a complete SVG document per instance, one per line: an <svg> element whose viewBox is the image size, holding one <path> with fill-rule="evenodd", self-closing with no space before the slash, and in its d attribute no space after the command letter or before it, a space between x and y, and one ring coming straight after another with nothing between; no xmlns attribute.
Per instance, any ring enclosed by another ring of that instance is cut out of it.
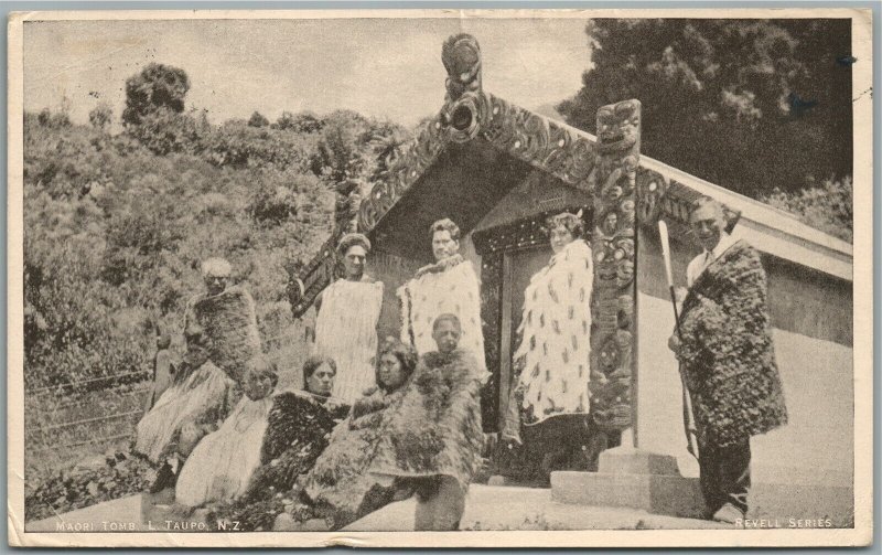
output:
<svg viewBox="0 0 882 555"><path fill-rule="evenodd" d="M481 374L467 351L424 354L380 438L370 471L450 476L467 488L481 465Z"/></svg>

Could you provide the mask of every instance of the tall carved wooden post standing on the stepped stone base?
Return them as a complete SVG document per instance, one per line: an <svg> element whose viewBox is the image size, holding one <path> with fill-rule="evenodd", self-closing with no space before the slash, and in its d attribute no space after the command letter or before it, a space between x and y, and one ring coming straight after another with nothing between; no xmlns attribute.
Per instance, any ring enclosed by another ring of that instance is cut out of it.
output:
<svg viewBox="0 0 882 555"><path fill-rule="evenodd" d="M641 103L598 110L594 194L594 292L591 392L594 423L604 433L632 427L637 446L635 178Z"/></svg>

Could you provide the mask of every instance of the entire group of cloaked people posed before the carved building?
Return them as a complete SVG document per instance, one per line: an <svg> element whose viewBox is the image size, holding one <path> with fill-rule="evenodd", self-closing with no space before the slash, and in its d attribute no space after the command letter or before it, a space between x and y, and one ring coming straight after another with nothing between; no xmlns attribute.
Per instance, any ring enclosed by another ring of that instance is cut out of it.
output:
<svg viewBox="0 0 882 555"><path fill-rule="evenodd" d="M785 424L786 408L759 254L729 234L716 201L697 201L690 222L703 253L688 267L669 346L693 405L708 517L734 522L747 510L750 437ZM513 356L519 374L502 436L515 444L558 417L590 420L589 384L604 377L589 364L593 268L581 215L555 215L547 230L553 256L524 291ZM182 369L138 425L137 450L163 465L154 490L176 482L179 503L226 503L218 513L251 530L272 526L247 514L255 503L283 503L278 519L293 530L316 520L336 530L415 495L416 530L456 530L484 447L488 373L480 285L459 254L460 230L441 220L430 236L435 263L398 289L400 337L381 342L384 285L365 273L370 243L341 238L343 277L315 302L298 392L273 393L250 296L227 287L226 262L207 260L206 293L186 311Z"/></svg>

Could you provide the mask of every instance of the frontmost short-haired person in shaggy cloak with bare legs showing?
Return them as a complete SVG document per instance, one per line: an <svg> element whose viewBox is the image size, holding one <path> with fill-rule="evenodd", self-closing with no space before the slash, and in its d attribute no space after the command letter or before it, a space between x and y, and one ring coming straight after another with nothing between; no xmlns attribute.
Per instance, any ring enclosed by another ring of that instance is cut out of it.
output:
<svg viewBox="0 0 882 555"><path fill-rule="evenodd" d="M472 353L458 348L456 316L440 314L432 335L438 350L420 357L369 470L413 488L416 531L451 531L481 463L482 376Z"/></svg>

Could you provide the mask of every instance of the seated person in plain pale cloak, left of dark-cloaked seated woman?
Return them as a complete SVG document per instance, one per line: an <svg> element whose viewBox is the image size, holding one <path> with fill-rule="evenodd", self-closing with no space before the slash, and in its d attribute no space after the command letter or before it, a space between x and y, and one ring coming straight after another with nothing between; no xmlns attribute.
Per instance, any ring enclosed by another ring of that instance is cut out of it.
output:
<svg viewBox="0 0 882 555"><path fill-rule="evenodd" d="M217 431L195 446L181 470L175 500L186 506L228 501L245 493L260 466L260 446L278 382L272 364L257 357L245 374L245 397Z"/></svg>

